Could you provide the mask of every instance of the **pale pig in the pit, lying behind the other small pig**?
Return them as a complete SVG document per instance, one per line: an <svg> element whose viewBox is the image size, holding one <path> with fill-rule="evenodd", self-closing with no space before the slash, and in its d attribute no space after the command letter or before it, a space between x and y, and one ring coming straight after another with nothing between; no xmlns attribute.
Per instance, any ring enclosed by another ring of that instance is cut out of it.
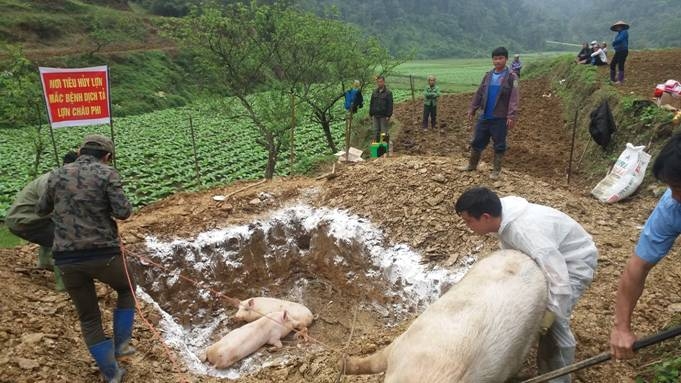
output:
<svg viewBox="0 0 681 383"><path fill-rule="evenodd" d="M291 318L293 328L297 330L305 329L312 323L312 311L307 307L300 303L268 297L250 298L241 301L239 310L234 314L234 319L252 322L260 318L261 315L284 310Z"/></svg>

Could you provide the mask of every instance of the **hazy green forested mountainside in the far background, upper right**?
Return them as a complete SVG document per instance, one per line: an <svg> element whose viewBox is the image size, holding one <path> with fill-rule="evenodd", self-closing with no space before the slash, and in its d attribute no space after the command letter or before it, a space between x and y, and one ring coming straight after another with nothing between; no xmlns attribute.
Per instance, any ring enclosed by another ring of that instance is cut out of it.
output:
<svg viewBox="0 0 681 383"><path fill-rule="evenodd" d="M219 3L233 3L220 0ZM136 0L150 12L183 16L199 0ZM297 7L337 17L377 36L393 54L416 58L484 57L499 45L512 51L563 50L547 40L611 41L610 25L632 25L634 49L681 46L681 8L669 0L296 0ZM570 48L567 48L570 49Z"/></svg>

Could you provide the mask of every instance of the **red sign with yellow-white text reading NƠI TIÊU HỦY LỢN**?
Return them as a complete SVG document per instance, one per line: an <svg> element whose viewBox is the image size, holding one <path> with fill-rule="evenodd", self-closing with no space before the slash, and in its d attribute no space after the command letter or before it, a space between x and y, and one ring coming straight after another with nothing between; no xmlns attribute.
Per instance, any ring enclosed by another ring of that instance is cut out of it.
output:
<svg viewBox="0 0 681 383"><path fill-rule="evenodd" d="M106 66L40 67L40 79L52 127L108 124L111 121Z"/></svg>

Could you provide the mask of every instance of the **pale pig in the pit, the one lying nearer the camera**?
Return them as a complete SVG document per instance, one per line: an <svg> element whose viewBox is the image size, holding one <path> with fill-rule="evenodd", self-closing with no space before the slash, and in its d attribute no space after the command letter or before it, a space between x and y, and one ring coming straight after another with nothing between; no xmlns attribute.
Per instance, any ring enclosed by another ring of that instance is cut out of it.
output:
<svg viewBox="0 0 681 383"><path fill-rule="evenodd" d="M201 354L201 361L208 360L217 369L227 368L266 344L280 348L281 338L288 335L292 328L293 323L286 311L268 314L230 331L217 343L207 347Z"/></svg>

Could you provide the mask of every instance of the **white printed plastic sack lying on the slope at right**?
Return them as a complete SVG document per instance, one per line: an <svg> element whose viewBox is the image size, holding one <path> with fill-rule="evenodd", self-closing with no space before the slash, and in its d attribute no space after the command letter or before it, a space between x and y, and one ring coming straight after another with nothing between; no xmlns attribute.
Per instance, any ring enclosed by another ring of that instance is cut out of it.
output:
<svg viewBox="0 0 681 383"><path fill-rule="evenodd" d="M645 146L627 143L610 173L596 185L591 194L605 203L615 203L630 196L643 182L650 154L643 151Z"/></svg>

